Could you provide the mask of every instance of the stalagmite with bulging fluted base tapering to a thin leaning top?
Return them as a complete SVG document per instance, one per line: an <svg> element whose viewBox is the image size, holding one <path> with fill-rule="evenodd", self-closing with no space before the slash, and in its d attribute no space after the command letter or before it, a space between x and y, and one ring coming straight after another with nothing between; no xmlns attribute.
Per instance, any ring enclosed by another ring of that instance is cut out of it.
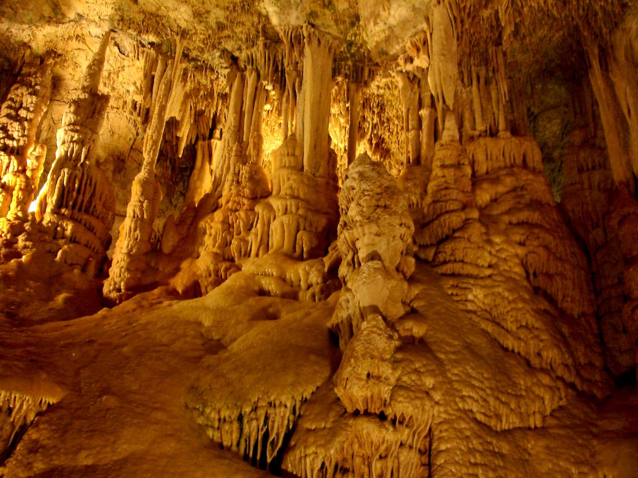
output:
<svg viewBox="0 0 638 478"><path fill-rule="evenodd" d="M113 187L95 152L109 99L98 92L109 40L107 31L85 71L80 96L64 112L56 161L36 210L51 235L47 249L89 276L101 272L114 221Z"/></svg>

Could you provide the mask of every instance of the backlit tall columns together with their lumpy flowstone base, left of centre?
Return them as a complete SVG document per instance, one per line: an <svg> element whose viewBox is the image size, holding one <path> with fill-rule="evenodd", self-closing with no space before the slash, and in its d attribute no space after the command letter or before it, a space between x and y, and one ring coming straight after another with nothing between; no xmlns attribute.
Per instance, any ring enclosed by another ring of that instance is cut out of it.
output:
<svg viewBox="0 0 638 478"><path fill-rule="evenodd" d="M195 286L197 291L198 284L202 293L207 292L241 270L245 259L270 252L297 260L322 256L334 236L335 161L327 131L334 39L309 25L286 27L280 33L283 50L260 40L237 58L226 55L230 93L223 135L198 144L187 194L190 205L208 196L211 201L204 208L212 211L198 206L193 243L198 257L182 262L172 280L180 290ZM291 57L297 64L290 63ZM281 102L278 110L284 124L299 120L295 134L284 131L283 145L269 154L269 178L262 167L262 122L265 106L269 102L272 109L273 99ZM162 244L163 251L172 247ZM116 249L114 266L117 256ZM136 280L131 279L130 289Z"/></svg>

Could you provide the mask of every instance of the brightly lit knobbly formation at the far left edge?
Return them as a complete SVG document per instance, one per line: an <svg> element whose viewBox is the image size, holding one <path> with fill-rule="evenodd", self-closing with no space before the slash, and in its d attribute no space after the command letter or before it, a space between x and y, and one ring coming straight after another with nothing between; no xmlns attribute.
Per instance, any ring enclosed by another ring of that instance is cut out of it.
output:
<svg viewBox="0 0 638 478"><path fill-rule="evenodd" d="M0 108L0 217L26 218L47 147L36 132L51 96L51 62L27 59Z"/></svg>

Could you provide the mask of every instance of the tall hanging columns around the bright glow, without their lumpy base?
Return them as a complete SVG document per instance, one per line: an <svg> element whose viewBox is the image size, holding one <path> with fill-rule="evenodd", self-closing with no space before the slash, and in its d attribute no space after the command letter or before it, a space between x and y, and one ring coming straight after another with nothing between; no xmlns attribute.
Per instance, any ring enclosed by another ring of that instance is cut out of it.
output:
<svg viewBox="0 0 638 478"><path fill-rule="evenodd" d="M311 25L281 27L279 34L283 45L262 39L241 52L238 59L228 55L230 94L224 134L209 145L212 154L202 157L197 170L198 176L211 176L210 189L219 191L220 197L227 187L236 147L250 163L262 163L263 110L273 91L281 113L281 138L295 134L295 154L304 158L301 169L315 176L330 176L327 125L336 42ZM211 173L201 168L209 168Z"/></svg>

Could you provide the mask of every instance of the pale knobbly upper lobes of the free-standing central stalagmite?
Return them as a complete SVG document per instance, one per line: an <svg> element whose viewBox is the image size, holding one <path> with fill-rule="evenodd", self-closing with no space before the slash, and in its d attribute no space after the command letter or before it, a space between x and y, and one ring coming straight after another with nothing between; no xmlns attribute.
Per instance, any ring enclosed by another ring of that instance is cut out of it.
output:
<svg viewBox="0 0 638 478"><path fill-rule="evenodd" d="M414 268L414 226L383 164L373 163L366 154L348 168L339 210L339 277L346 289L330 326L344 348L366 320L367 310L378 310L389 320L405 313L405 280ZM382 231L392 231L392 236Z"/></svg>

